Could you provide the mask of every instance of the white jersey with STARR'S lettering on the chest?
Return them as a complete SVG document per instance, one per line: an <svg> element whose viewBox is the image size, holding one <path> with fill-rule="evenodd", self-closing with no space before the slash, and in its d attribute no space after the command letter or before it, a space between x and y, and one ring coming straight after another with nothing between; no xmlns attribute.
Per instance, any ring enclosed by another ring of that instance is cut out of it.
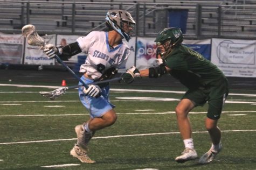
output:
<svg viewBox="0 0 256 170"><path fill-rule="evenodd" d="M79 72L86 73L94 80L110 67L124 68L130 49L122 42L114 49L108 44L108 32L92 31L86 37L79 37L77 42L82 52L87 53L85 63L81 65Z"/></svg>

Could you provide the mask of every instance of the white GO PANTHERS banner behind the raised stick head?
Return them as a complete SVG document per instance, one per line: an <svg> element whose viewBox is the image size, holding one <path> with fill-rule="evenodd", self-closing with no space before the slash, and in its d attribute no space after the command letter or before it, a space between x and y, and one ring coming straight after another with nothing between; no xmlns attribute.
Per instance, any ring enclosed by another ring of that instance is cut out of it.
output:
<svg viewBox="0 0 256 170"><path fill-rule="evenodd" d="M46 44L55 44L56 35L42 36ZM55 59L48 59L43 50L38 46L31 46L25 43L24 64L26 65L54 65Z"/></svg>

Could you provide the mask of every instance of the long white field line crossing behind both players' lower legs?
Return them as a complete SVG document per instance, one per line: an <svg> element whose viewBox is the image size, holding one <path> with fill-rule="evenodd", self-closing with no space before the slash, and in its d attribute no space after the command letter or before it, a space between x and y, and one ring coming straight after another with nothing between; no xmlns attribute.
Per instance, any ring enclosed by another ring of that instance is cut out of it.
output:
<svg viewBox="0 0 256 170"><path fill-rule="evenodd" d="M256 130L222 130L222 132L254 132ZM192 133L208 133L208 131L197 131ZM105 139L105 138L122 138L122 137L136 137L136 136L153 136L161 134L179 134L179 132L164 132L164 133L142 133L142 134L127 134L127 135L117 135L117 136L105 136L105 137L93 137L92 139ZM28 143L44 143L51 141L68 141L77 140L77 138L71 139L51 139L51 140L33 140L33 141L17 141L9 143L0 143L0 145L11 145L11 144L28 144Z"/></svg>

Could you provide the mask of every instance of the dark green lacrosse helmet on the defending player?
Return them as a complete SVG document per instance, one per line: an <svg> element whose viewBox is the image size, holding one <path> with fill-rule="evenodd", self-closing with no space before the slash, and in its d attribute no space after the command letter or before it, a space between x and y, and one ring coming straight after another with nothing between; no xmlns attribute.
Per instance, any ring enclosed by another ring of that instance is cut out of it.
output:
<svg viewBox="0 0 256 170"><path fill-rule="evenodd" d="M171 46L181 44L183 41L181 29L175 27L165 28L157 34L155 42L164 42L167 40L170 40Z"/></svg>

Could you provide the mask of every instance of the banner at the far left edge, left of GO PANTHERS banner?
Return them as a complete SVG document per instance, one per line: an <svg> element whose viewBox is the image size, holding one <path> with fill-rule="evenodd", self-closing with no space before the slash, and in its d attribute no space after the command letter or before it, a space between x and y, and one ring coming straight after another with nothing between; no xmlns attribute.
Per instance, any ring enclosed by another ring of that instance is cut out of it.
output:
<svg viewBox="0 0 256 170"><path fill-rule="evenodd" d="M22 34L0 33L0 62L22 63L24 38Z"/></svg>

